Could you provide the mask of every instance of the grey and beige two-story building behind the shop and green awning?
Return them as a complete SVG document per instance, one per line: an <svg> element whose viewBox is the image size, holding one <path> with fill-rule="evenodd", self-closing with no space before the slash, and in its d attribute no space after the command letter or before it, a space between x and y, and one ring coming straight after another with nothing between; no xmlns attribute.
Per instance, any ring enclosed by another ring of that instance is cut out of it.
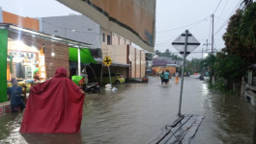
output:
<svg viewBox="0 0 256 144"><path fill-rule="evenodd" d="M107 55L113 62L110 71L121 73L125 78L145 76L145 53L131 46L131 41L100 28L100 25L84 15L70 14L40 18L41 31L81 42L92 43L91 53L98 64L91 64L97 77L108 73L102 60Z"/></svg>

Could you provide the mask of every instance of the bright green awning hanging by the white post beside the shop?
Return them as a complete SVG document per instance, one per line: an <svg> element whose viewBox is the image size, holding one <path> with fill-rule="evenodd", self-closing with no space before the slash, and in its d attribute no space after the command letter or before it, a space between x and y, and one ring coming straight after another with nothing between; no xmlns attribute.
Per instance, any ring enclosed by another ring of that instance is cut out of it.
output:
<svg viewBox="0 0 256 144"><path fill-rule="evenodd" d="M69 48L70 51L70 60L71 61L77 61L77 48ZM93 56L91 55L91 52L89 49L86 48L81 48L80 49L80 59L81 59L81 63L97 63L97 61L93 58Z"/></svg>

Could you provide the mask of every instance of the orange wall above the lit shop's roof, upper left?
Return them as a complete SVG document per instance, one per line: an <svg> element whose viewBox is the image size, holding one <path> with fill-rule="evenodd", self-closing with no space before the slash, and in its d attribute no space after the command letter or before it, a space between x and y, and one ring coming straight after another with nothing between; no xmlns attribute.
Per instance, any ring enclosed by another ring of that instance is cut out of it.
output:
<svg viewBox="0 0 256 144"><path fill-rule="evenodd" d="M14 25L18 25L20 27L31 29L34 31L39 31L39 20L38 19L19 16L14 13L11 13L11 12L3 11L3 22L4 23L12 23Z"/></svg>

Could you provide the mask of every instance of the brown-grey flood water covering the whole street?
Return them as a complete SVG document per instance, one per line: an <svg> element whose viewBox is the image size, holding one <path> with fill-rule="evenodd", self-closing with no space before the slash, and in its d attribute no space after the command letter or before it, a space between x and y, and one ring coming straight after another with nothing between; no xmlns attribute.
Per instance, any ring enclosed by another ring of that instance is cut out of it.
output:
<svg viewBox="0 0 256 144"><path fill-rule="evenodd" d="M20 134L22 113L0 115L0 143L7 144L144 144L177 118L180 84L119 84L85 98L81 132ZM185 77L183 114L204 115L193 144L252 143L254 107L235 95L208 88L205 81Z"/></svg>

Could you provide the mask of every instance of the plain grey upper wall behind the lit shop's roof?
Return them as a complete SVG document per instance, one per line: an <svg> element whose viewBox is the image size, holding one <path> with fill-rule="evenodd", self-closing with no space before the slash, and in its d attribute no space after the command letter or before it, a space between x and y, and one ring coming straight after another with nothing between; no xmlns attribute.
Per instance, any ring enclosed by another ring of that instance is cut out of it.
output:
<svg viewBox="0 0 256 144"><path fill-rule="evenodd" d="M84 15L42 17L43 33L90 43L100 48L100 25Z"/></svg>

